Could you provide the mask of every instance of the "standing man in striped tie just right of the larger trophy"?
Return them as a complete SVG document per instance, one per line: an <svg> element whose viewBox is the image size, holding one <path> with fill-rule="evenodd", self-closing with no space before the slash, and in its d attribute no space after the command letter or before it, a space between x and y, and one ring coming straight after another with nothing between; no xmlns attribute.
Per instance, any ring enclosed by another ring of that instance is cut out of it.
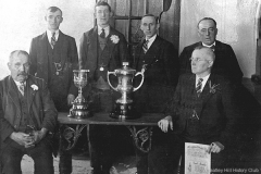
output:
<svg viewBox="0 0 261 174"><path fill-rule="evenodd" d="M146 14L141 18L140 29L145 39L136 47L133 67L145 70L144 84L134 92L134 101L139 112L163 113L178 79L178 55L174 46L157 35L160 27L158 17ZM139 83L138 83L139 84ZM153 144L163 137L160 129L153 129ZM137 151L139 174L148 173L147 154Z"/></svg>

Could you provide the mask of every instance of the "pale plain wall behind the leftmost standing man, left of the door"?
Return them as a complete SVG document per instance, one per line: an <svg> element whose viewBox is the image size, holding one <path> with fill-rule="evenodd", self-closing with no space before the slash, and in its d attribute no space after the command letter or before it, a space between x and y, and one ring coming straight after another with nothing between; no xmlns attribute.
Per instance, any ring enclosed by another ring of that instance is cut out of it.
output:
<svg viewBox="0 0 261 174"><path fill-rule="evenodd" d="M0 79L10 74L10 52L29 51L32 38L46 32L49 7L63 11L60 29L74 37L77 46L83 33L94 26L95 0L0 0Z"/></svg>

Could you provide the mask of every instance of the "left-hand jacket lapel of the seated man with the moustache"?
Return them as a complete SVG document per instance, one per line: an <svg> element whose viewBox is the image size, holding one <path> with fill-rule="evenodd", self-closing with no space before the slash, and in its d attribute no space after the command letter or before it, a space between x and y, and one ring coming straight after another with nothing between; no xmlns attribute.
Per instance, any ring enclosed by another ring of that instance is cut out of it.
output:
<svg viewBox="0 0 261 174"><path fill-rule="evenodd" d="M21 112L21 105L20 105L20 99L18 99L18 89L17 86L15 85L14 80L12 79L11 76L9 76L9 82L8 82L8 94L11 100L14 102L16 105L17 110Z"/></svg>

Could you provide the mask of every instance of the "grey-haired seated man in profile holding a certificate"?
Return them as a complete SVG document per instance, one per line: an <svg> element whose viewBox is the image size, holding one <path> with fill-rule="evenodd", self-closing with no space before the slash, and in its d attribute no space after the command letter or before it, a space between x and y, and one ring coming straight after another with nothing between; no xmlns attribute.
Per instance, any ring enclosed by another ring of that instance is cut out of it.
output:
<svg viewBox="0 0 261 174"><path fill-rule="evenodd" d="M212 167L223 169L236 149L233 145L240 117L235 105L235 90L229 80L211 73L214 59L210 48L199 46L192 51L192 74L179 77L167 116L158 123L164 133L173 134L170 134L169 144L152 147L150 173L174 173L181 156L183 172L185 142L210 145Z"/></svg>

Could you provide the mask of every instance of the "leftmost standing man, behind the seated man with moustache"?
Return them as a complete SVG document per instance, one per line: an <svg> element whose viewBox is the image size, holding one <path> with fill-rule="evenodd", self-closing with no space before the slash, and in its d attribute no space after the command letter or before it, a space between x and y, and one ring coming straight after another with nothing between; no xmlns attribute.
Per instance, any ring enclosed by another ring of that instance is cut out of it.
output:
<svg viewBox="0 0 261 174"><path fill-rule="evenodd" d="M59 8L48 8L45 20L47 32L32 40L29 73L47 82L58 111L69 111L77 95L73 83L73 70L78 69L75 39L59 29L63 21Z"/></svg>

